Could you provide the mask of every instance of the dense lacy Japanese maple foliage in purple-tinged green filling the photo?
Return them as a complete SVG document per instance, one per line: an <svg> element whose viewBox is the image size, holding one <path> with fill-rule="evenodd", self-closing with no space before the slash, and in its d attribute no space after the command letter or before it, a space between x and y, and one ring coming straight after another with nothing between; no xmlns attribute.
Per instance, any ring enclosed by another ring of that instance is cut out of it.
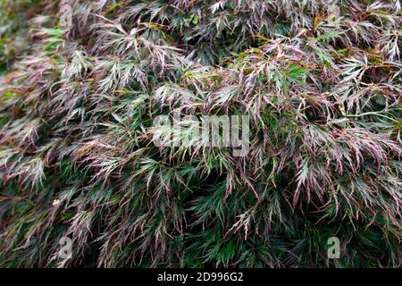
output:
<svg viewBox="0 0 402 286"><path fill-rule="evenodd" d="M398 0L0 15L0 266L402 264ZM249 114L248 155L155 147L173 111Z"/></svg>

